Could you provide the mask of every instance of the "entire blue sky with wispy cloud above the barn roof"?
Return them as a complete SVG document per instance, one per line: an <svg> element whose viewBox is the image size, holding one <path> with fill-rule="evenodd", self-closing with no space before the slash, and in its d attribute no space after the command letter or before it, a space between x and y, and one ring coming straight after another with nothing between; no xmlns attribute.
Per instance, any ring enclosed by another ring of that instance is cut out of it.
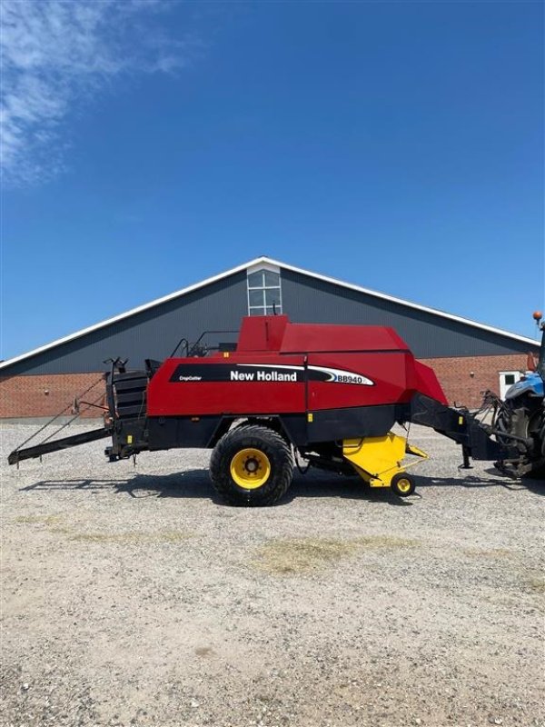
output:
<svg viewBox="0 0 545 727"><path fill-rule="evenodd" d="M4 2L2 357L260 254L533 336L543 7Z"/></svg>

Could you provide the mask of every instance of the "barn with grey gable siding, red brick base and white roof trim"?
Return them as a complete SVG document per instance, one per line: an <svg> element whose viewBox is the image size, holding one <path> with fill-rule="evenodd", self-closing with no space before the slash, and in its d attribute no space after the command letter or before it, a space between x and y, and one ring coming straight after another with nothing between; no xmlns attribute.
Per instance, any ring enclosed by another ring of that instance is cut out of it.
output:
<svg viewBox="0 0 545 727"><path fill-rule="evenodd" d="M244 315L274 313L295 323L391 326L435 370L450 403L470 407L485 389L503 394L528 352L538 352L530 338L263 256L2 362L0 417L52 416L82 392L100 405L107 359L142 368L176 346L179 355L197 342L233 348Z"/></svg>

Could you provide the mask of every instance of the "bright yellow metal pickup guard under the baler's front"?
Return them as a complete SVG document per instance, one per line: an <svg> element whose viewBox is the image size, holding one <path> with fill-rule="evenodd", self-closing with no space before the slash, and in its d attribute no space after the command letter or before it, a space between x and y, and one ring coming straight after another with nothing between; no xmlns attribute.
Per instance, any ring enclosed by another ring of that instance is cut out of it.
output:
<svg viewBox="0 0 545 727"><path fill-rule="evenodd" d="M345 439L342 442L342 454L372 487L390 487L395 474L418 464L418 461L403 464L405 454L428 459L425 452L392 432L383 437Z"/></svg>

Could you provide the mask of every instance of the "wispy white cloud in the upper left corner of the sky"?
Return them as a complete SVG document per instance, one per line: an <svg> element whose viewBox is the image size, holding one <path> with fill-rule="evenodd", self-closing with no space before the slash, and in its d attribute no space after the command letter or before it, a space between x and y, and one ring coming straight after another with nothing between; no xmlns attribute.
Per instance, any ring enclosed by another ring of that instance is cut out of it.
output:
<svg viewBox="0 0 545 727"><path fill-rule="evenodd" d="M115 76L183 65L187 42L165 37L152 22L164 7L158 0L1 0L4 184L58 174L66 118Z"/></svg>

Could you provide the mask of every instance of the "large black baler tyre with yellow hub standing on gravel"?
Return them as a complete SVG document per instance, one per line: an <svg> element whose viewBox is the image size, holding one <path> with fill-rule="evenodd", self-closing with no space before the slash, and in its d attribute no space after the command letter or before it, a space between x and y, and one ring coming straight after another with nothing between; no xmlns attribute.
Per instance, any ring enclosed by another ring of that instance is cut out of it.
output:
<svg viewBox="0 0 545 727"><path fill-rule="evenodd" d="M277 503L292 475L290 445L272 429L256 424L224 434L210 460L216 492L227 503L243 507Z"/></svg>

